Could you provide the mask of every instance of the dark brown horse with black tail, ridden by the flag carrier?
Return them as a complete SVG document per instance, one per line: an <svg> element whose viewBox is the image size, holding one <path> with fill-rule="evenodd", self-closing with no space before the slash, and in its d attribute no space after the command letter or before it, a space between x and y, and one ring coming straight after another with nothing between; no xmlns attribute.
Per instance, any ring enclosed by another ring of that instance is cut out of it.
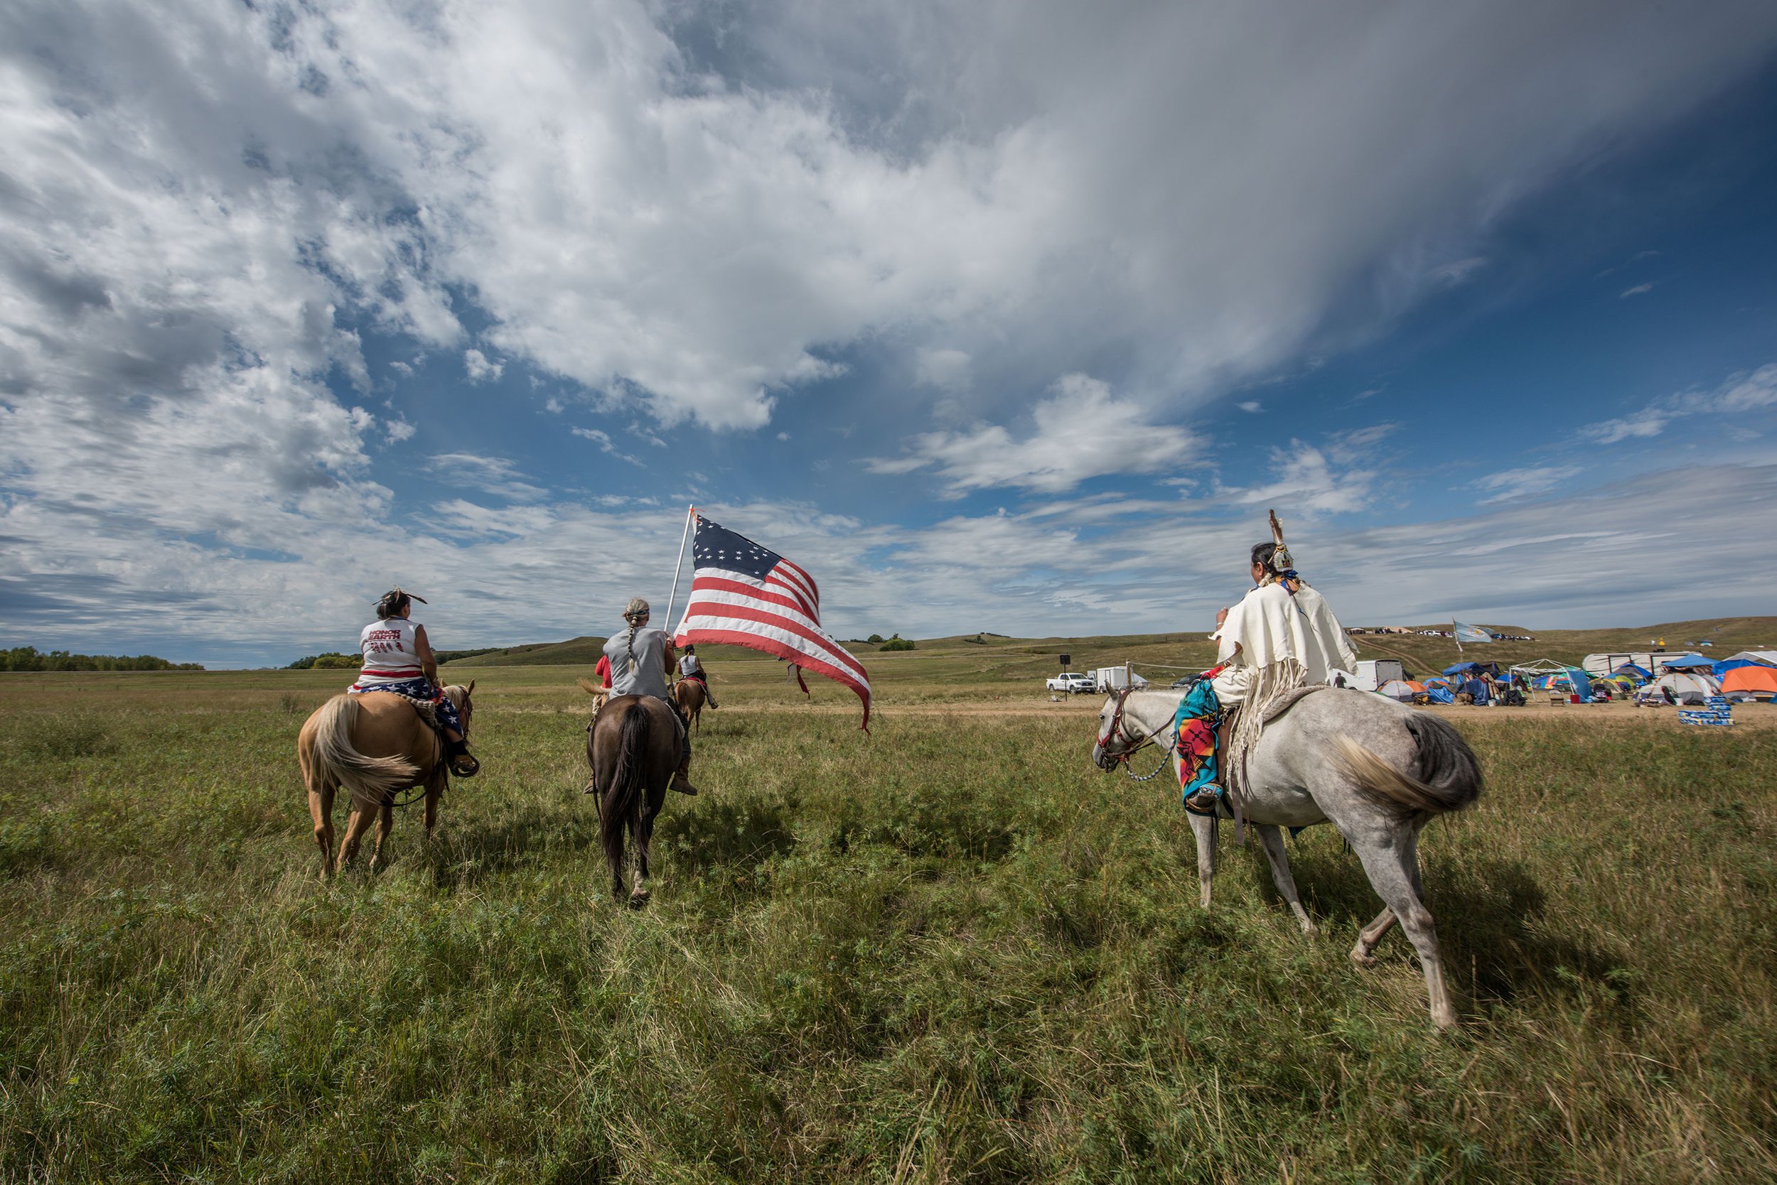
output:
<svg viewBox="0 0 1777 1185"><path fill-rule="evenodd" d="M592 766L586 792L597 794L599 839L617 897L624 895L624 837L636 846L631 910L649 903L649 842L679 755L679 718L666 700L652 695L611 696L586 725L586 762Z"/></svg>

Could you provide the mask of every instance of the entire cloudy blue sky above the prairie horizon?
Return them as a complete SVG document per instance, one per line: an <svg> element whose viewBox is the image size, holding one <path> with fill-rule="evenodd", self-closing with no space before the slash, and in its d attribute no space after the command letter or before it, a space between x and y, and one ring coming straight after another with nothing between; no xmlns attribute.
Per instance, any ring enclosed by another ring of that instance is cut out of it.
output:
<svg viewBox="0 0 1777 1185"><path fill-rule="evenodd" d="M0 14L0 641L1770 613L1777 9Z"/></svg>

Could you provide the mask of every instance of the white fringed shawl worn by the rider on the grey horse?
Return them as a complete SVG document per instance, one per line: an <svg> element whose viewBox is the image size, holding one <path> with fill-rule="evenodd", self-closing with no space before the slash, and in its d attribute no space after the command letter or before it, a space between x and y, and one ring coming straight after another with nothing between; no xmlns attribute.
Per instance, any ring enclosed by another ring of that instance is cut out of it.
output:
<svg viewBox="0 0 1777 1185"><path fill-rule="evenodd" d="M1301 677L1292 672L1288 679L1267 682L1310 686L1327 682L1335 668L1351 670L1358 663L1326 597L1306 585L1295 595L1281 581L1255 588L1228 609L1210 638L1221 641L1215 661L1228 663L1214 682L1215 698L1223 704L1246 700L1262 680L1262 672L1299 664Z"/></svg>

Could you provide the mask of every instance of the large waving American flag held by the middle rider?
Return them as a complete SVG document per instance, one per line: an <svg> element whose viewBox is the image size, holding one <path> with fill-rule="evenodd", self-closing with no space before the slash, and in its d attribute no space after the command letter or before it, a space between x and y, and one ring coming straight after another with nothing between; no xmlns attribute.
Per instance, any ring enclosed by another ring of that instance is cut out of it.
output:
<svg viewBox="0 0 1777 1185"><path fill-rule="evenodd" d="M697 515L691 565L691 599L673 643L748 647L826 675L858 693L864 727L871 727L871 677L821 629L821 590L812 576L704 515Z"/></svg>

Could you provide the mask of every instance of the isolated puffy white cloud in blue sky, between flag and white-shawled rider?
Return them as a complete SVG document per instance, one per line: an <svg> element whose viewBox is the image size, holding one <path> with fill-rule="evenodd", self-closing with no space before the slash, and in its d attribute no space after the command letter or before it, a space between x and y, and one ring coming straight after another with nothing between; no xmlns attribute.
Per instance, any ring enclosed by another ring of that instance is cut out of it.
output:
<svg viewBox="0 0 1777 1185"><path fill-rule="evenodd" d="M1198 446L1185 428L1153 423L1134 400L1088 375L1064 375L1032 409L1022 441L999 425L968 432L931 432L913 441L910 457L865 464L874 473L912 473L936 465L952 494L1022 487L1059 494L1111 473L1155 473L1183 462Z"/></svg>

